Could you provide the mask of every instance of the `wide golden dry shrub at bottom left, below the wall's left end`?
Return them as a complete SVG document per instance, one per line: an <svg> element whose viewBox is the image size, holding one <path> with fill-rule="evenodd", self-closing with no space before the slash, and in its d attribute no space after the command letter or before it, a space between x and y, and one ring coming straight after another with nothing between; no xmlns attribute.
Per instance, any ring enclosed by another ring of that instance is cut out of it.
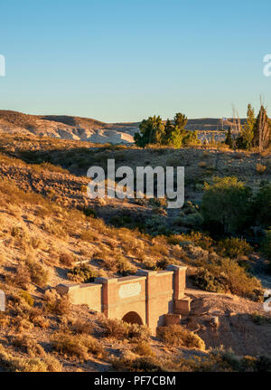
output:
<svg viewBox="0 0 271 390"><path fill-rule="evenodd" d="M98 340L89 335L72 335L60 332L52 337L51 343L64 356L79 357L81 360L88 360L89 353L96 357L106 356L106 351Z"/></svg>

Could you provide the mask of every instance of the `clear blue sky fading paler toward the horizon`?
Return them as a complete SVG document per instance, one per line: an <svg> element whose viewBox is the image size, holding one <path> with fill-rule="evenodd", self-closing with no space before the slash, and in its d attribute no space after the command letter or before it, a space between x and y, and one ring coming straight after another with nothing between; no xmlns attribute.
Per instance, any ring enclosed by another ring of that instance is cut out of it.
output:
<svg viewBox="0 0 271 390"><path fill-rule="evenodd" d="M271 116L270 0L1 0L0 109L105 121Z"/></svg>

